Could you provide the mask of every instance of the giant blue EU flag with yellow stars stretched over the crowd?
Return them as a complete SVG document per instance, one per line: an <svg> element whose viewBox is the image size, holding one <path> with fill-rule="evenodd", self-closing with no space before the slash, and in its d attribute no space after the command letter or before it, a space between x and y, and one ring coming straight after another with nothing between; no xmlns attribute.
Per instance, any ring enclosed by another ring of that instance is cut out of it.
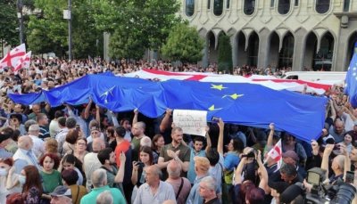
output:
<svg viewBox="0 0 357 204"><path fill-rule="evenodd" d="M167 108L207 110L225 122L267 127L275 123L299 139L310 141L320 136L325 120L325 97L276 91L245 83L209 83L169 80L154 82L141 78L120 78L110 74L87 75L67 85L37 94L9 94L14 102L33 104L49 102L53 107L63 102L77 105L91 98L114 112L138 109L156 118Z"/></svg>

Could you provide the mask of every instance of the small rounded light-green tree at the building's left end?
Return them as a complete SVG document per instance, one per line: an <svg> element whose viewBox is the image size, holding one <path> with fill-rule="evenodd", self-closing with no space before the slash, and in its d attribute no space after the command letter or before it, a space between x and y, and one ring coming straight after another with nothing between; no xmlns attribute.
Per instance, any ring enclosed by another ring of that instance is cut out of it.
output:
<svg viewBox="0 0 357 204"><path fill-rule="evenodd" d="M173 61L196 62L203 56L204 41L195 28L179 23L171 29L162 53Z"/></svg>

